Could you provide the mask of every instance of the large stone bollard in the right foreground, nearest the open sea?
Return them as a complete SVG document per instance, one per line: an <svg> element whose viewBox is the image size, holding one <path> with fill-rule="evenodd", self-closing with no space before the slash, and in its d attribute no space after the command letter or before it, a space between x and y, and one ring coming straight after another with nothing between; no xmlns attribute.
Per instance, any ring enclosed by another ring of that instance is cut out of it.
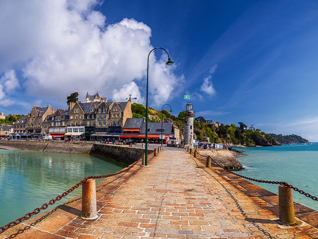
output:
<svg viewBox="0 0 318 239"><path fill-rule="evenodd" d="M296 223L292 189L283 184L278 186L278 207L280 223Z"/></svg>

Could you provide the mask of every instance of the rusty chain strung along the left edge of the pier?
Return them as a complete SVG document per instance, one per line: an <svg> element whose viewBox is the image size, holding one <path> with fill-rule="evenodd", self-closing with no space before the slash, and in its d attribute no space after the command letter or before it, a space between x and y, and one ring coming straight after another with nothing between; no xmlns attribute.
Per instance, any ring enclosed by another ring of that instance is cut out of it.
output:
<svg viewBox="0 0 318 239"><path fill-rule="evenodd" d="M119 171L117 173L108 174L108 175L101 175L101 176L88 176L88 177L84 178L78 184L76 184L75 186L70 188L68 191L62 193L60 196L57 196L55 199L50 200L49 203L43 204L41 208L36 208L36 209L33 210L33 212L25 214L24 217L19 218L19 219L15 220L14 222L8 223L7 225L5 225L3 227L0 227L0 234L5 232L9 228L13 228L14 226L22 223L25 220L30 219L33 215L36 215L36 214L40 213L41 210L47 209L49 207L49 205L55 204L56 201L60 201L63 197L67 196L69 193L73 192L80 185L82 185L87 179L91 179L91 178L93 178L93 179L108 178L108 177L111 177L111 176L115 176L115 175L118 175L118 174L125 173L125 172L129 171L133 166L135 166L135 164L138 163L141 158L142 158L142 156L136 162L131 164L128 168L126 168L125 170Z"/></svg>

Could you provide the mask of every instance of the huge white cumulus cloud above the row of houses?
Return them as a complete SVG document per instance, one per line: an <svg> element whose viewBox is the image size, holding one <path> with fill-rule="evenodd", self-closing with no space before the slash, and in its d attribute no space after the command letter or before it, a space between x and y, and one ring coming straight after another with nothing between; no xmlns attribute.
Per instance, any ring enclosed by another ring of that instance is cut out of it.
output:
<svg viewBox="0 0 318 239"><path fill-rule="evenodd" d="M127 18L106 26L106 16L93 10L96 4L101 1L1 1L0 54L4 60L0 73L18 62L26 94L55 98L58 104L64 104L73 92L84 100L87 91L97 90L108 99L125 99L130 93L139 94L142 100L145 94L139 87L145 85L147 56L153 48L151 28ZM183 79L164 63L152 53L149 91L155 105L171 98ZM7 84L9 89L18 82Z"/></svg>

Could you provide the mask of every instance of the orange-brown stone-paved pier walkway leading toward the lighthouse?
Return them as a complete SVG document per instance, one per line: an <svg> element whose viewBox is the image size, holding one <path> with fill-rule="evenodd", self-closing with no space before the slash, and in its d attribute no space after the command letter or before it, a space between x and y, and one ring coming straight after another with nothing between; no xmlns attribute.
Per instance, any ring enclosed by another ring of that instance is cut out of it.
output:
<svg viewBox="0 0 318 239"><path fill-rule="evenodd" d="M299 221L284 226L213 168L167 148L97 187L99 218L82 220L81 198L25 221L0 239L285 239L318 238Z"/></svg>

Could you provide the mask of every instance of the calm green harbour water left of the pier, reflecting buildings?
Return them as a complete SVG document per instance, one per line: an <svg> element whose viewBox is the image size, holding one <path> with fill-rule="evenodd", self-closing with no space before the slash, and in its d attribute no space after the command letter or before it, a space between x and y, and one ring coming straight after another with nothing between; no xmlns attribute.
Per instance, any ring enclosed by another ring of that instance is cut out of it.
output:
<svg viewBox="0 0 318 239"><path fill-rule="evenodd" d="M0 149L0 227L42 207L87 176L122 168L92 156ZM80 193L81 186L41 213Z"/></svg>

